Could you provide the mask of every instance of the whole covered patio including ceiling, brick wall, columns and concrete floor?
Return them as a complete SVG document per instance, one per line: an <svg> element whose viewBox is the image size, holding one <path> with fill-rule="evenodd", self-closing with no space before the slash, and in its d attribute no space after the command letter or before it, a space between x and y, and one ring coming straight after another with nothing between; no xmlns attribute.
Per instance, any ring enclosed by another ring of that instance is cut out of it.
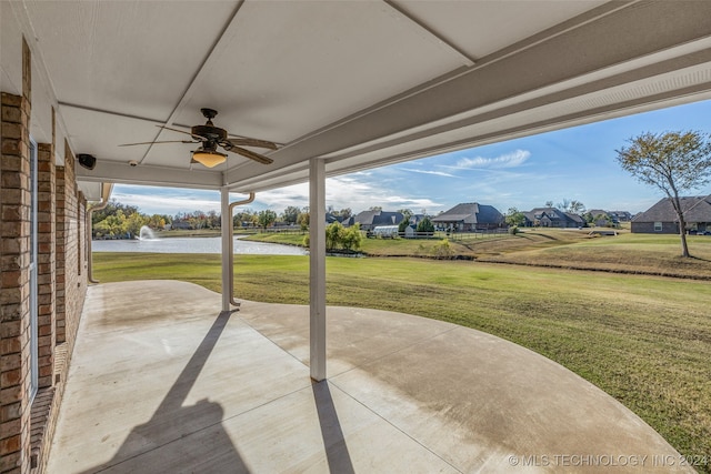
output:
<svg viewBox="0 0 711 474"><path fill-rule="evenodd" d="M709 99L709 1L1 1L0 472L674 455L521 347L327 309L327 178ZM307 182L309 306L237 301L234 205ZM88 288L114 183L220 192L220 295Z"/></svg>

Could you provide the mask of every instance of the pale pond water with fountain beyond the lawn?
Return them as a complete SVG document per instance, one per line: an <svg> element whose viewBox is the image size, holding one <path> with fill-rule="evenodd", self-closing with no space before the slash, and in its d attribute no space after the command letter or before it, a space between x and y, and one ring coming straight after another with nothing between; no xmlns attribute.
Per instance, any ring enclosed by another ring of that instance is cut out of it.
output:
<svg viewBox="0 0 711 474"><path fill-rule="evenodd" d="M238 254L308 255L306 249L277 243L251 242L236 236L232 248ZM143 240L94 240L93 252L147 253L222 253L221 238L169 238Z"/></svg>

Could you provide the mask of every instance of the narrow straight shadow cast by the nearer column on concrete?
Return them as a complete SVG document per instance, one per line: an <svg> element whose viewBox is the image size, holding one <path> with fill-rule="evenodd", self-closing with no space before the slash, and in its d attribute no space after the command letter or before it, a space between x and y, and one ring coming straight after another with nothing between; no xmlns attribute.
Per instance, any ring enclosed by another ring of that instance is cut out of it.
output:
<svg viewBox="0 0 711 474"><path fill-rule="evenodd" d="M328 381L313 382L311 384L316 409L319 413L319 424L321 425L321 437L329 463L329 472L338 474L354 474L341 423L333 405L331 390Z"/></svg>

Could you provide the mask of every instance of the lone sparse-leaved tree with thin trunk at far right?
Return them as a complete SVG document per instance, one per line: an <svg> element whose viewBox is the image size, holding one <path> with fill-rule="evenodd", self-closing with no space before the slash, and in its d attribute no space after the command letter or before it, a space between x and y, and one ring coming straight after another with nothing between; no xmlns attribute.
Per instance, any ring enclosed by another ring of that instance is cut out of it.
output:
<svg viewBox="0 0 711 474"><path fill-rule="evenodd" d="M644 184L662 190L679 222L681 255L691 256L687 221L679 194L700 188L711 178L711 135L698 131L645 132L615 150L622 169Z"/></svg>

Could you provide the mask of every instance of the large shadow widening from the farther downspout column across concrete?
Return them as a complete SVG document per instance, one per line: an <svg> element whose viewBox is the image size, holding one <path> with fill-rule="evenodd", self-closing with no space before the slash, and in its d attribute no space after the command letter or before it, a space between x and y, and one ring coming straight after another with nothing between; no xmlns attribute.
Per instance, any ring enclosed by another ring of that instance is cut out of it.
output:
<svg viewBox="0 0 711 474"><path fill-rule="evenodd" d="M110 461L84 473L250 472L222 426L219 403L182 406L230 315L223 311L216 319L153 416L131 430Z"/></svg>

